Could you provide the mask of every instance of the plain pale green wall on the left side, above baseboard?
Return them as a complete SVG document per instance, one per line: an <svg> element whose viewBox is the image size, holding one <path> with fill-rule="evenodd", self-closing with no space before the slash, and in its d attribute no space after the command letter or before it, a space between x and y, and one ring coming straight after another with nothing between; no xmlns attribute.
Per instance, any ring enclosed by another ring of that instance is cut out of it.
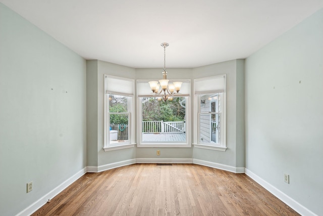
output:
<svg viewBox="0 0 323 216"><path fill-rule="evenodd" d="M1 3L0 104L6 216L86 167L86 62Z"/></svg>

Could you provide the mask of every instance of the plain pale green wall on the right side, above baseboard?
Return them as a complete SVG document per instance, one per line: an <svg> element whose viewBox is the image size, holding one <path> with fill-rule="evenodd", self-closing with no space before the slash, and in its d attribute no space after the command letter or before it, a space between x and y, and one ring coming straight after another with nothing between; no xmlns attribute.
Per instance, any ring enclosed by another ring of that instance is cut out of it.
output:
<svg viewBox="0 0 323 216"><path fill-rule="evenodd" d="M323 215L322 29L320 10L245 61L246 168L317 215Z"/></svg>

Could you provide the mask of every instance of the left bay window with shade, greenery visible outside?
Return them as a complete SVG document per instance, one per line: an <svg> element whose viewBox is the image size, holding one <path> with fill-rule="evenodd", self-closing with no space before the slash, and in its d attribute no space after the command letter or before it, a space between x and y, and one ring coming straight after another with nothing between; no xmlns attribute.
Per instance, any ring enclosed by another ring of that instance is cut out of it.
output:
<svg viewBox="0 0 323 216"><path fill-rule="evenodd" d="M134 80L104 75L104 151L134 147Z"/></svg>

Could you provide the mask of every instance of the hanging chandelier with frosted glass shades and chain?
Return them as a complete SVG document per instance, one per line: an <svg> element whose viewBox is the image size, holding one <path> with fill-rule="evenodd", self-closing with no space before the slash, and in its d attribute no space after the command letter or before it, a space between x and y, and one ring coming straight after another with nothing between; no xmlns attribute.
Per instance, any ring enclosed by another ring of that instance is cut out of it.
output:
<svg viewBox="0 0 323 216"><path fill-rule="evenodd" d="M163 79L160 79L158 81L150 81L148 83L150 85L151 91L157 97L161 97L166 102L170 96L174 96L175 94L179 94L179 91L182 86L182 82L168 83L169 79L167 79L167 71L166 71L166 48L169 46L169 44L163 43L160 46L164 47ZM160 87L161 87L161 89L159 90Z"/></svg>

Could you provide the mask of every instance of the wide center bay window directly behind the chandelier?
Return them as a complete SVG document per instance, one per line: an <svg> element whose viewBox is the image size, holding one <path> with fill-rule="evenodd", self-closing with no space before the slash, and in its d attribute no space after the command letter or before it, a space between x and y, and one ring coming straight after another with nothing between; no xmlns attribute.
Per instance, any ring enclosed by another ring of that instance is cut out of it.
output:
<svg viewBox="0 0 323 216"><path fill-rule="evenodd" d="M173 80L174 81L174 80ZM151 92L147 80L137 80L138 147L190 147L190 80L181 80L181 94L166 102Z"/></svg>

